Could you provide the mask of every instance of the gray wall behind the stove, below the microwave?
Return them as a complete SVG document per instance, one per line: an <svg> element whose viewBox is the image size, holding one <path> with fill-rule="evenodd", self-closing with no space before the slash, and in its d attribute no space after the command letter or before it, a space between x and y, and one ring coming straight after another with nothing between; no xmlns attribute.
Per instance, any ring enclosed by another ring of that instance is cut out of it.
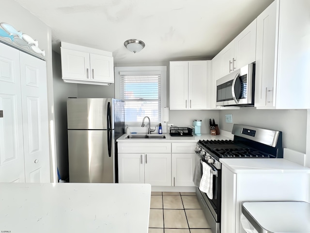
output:
<svg viewBox="0 0 310 233"><path fill-rule="evenodd" d="M306 153L307 110L259 110L252 107L220 110L219 127L231 132L233 124L225 123L225 114L233 114L235 124L282 131L284 148Z"/></svg>

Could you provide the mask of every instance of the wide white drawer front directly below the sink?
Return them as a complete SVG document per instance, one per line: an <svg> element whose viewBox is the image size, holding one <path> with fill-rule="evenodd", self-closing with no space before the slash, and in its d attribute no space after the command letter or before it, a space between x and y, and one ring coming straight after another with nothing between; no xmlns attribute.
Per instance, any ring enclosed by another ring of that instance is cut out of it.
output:
<svg viewBox="0 0 310 233"><path fill-rule="evenodd" d="M171 153L171 143L118 143L119 153Z"/></svg>

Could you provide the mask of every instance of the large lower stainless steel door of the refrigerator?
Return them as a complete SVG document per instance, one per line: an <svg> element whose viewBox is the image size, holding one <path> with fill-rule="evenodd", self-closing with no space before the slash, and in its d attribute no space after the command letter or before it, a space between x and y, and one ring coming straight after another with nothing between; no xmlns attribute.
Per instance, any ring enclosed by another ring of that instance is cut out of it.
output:
<svg viewBox="0 0 310 233"><path fill-rule="evenodd" d="M114 138L114 131L112 138ZM69 179L72 183L114 183L114 140L111 157L107 130L68 130Z"/></svg>

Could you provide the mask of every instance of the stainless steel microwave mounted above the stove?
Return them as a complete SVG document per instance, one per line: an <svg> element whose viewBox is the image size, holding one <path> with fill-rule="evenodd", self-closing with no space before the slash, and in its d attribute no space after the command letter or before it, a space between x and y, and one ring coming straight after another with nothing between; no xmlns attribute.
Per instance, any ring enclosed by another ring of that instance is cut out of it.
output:
<svg viewBox="0 0 310 233"><path fill-rule="evenodd" d="M217 106L254 105L255 64L241 67L217 80Z"/></svg>

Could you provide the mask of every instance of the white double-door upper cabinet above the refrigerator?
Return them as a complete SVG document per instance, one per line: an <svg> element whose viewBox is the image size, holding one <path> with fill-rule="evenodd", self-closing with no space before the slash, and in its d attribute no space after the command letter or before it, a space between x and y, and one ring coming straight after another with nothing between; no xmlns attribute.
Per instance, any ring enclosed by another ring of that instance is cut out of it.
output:
<svg viewBox="0 0 310 233"><path fill-rule="evenodd" d="M111 52L62 42L62 80L66 83L114 83Z"/></svg>

